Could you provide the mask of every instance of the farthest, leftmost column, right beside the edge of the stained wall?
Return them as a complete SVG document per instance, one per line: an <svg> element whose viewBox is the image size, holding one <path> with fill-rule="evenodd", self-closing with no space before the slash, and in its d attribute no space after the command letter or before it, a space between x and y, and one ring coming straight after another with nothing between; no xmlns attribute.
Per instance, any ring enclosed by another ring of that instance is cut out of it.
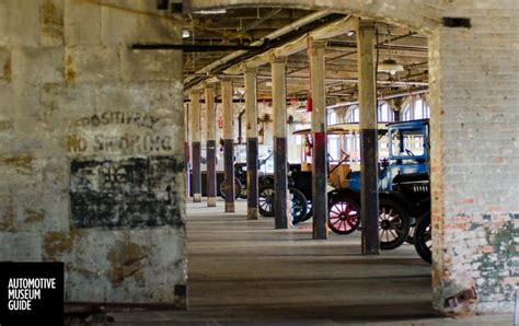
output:
<svg viewBox="0 0 519 326"><path fill-rule="evenodd" d="M191 100L191 139L193 152L193 201L201 201L201 174L200 174L200 92L189 93Z"/></svg>

